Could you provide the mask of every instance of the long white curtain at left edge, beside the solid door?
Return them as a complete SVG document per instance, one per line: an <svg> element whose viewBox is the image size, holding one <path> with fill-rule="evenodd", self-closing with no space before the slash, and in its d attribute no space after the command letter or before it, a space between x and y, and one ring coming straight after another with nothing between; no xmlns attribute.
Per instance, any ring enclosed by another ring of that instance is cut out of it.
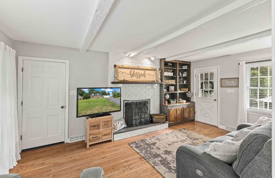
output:
<svg viewBox="0 0 275 178"><path fill-rule="evenodd" d="M15 50L0 42L0 174L20 160Z"/></svg>

